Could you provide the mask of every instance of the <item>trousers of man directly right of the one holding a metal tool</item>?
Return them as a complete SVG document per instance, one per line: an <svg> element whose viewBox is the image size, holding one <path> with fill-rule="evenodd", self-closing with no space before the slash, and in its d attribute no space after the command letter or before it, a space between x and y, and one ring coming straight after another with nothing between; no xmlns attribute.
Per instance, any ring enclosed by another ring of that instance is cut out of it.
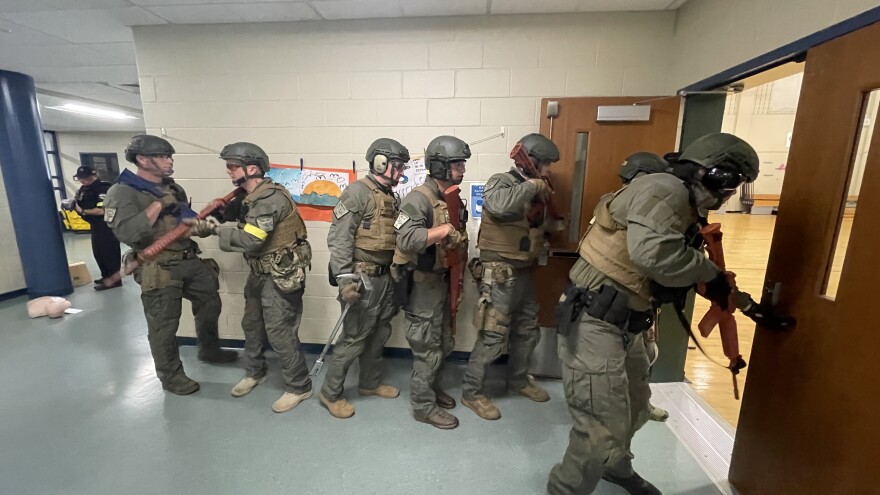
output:
<svg viewBox="0 0 880 495"><path fill-rule="evenodd" d="M409 304L404 308L409 328L406 340L413 353L410 402L413 414L427 418L437 406L443 361L452 352L449 281L442 275L416 271Z"/></svg>

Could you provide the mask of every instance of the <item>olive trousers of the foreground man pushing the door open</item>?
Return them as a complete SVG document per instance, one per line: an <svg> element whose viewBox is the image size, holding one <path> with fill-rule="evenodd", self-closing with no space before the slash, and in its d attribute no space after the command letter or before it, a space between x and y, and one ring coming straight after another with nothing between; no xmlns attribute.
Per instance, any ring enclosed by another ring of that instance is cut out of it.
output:
<svg viewBox="0 0 880 495"><path fill-rule="evenodd" d="M550 471L552 495L592 493L606 471L632 475L633 435L648 421L648 356L642 334L588 315L559 340L565 399L574 420L562 462Z"/></svg>

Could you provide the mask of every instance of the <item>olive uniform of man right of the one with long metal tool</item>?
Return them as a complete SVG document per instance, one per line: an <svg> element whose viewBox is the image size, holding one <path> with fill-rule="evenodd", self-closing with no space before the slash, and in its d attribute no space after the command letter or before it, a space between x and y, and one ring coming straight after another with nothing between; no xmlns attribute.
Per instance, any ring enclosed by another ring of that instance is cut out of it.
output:
<svg viewBox="0 0 880 495"><path fill-rule="evenodd" d="M450 223L449 220L443 191L437 181L428 177L403 198L394 223L397 229L394 262L415 268L412 292L403 309L409 322L406 340L413 353L410 401L417 419L427 418L437 409L435 391L441 390L443 360L455 345L450 327L449 270L444 258L446 249L461 246L444 246L441 242L425 247L428 229ZM464 224L460 234L466 245Z"/></svg>

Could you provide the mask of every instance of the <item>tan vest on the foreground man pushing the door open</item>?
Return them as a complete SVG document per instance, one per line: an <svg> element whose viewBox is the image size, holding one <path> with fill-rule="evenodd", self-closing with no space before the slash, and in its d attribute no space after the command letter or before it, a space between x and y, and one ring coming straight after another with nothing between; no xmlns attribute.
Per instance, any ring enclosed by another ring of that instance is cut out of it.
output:
<svg viewBox="0 0 880 495"><path fill-rule="evenodd" d="M597 270L645 299L651 298L650 280L636 268L626 246L626 226L611 217L609 205L624 189L599 200L593 224L578 246L581 258Z"/></svg>

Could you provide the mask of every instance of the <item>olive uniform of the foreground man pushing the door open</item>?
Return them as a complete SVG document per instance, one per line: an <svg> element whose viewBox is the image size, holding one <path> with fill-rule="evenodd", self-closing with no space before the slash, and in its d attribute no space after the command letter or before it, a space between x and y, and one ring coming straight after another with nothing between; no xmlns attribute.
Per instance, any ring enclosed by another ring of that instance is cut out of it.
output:
<svg viewBox="0 0 880 495"><path fill-rule="evenodd" d="M559 357L574 426L553 495L591 493L603 474L633 476L630 443L649 417L649 360L643 331L652 323L650 284L688 287L718 268L687 246L697 220L683 182L665 173L637 178L604 196L569 272L590 294L560 326ZM567 291L568 294L568 291ZM611 323L610 321L614 321Z"/></svg>

